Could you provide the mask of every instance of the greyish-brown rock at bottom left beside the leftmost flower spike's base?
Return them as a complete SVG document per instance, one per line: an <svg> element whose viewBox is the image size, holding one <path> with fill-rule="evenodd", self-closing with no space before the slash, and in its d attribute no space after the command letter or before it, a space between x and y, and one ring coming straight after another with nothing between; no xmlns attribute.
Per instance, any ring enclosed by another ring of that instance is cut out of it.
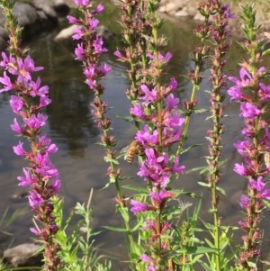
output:
<svg viewBox="0 0 270 271"><path fill-rule="evenodd" d="M3 261L13 266L41 266L42 254L35 254L39 248L39 245L33 243L8 248L4 250Z"/></svg>

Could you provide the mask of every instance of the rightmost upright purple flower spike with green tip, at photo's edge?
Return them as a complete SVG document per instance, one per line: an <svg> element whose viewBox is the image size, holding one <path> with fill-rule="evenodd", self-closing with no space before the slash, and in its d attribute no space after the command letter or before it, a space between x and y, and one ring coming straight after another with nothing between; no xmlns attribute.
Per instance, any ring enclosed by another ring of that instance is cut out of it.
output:
<svg viewBox="0 0 270 271"><path fill-rule="evenodd" d="M233 86L228 90L230 101L240 104L239 116L245 123L242 130L244 139L234 143L243 158L242 163L235 164L234 171L247 178L247 194L242 194L239 201L244 216L238 221L238 225L245 231L245 235L242 236L243 246L239 248L237 268L256 270L257 257L261 254L259 245L262 241L259 223L268 205L267 201L270 200L270 189L266 188L266 176L270 172L269 120L265 118L270 86L263 82L269 75L269 69L260 67L260 61L266 54L265 41L257 39L260 26L256 25L253 5L242 8L241 19L247 39L242 47L249 59L239 64L239 79L229 77Z"/></svg>

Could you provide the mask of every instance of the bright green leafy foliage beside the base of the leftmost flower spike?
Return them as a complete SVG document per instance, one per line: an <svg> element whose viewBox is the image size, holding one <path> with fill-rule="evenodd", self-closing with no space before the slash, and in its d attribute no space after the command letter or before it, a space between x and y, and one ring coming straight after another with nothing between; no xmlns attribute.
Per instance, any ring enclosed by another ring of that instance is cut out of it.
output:
<svg viewBox="0 0 270 271"><path fill-rule="evenodd" d="M56 239L61 248L62 269L65 271L91 271L91 270L111 270L111 262L101 263L103 255L98 255L98 248L94 247L93 236L100 232L94 232L91 227L93 207L90 207L92 193L89 196L87 205L85 203L76 203L74 211L70 212L67 221L63 220L64 201L58 197L53 198L55 205L54 215L59 230ZM77 221L74 230L68 236L70 223L74 215L82 217Z"/></svg>

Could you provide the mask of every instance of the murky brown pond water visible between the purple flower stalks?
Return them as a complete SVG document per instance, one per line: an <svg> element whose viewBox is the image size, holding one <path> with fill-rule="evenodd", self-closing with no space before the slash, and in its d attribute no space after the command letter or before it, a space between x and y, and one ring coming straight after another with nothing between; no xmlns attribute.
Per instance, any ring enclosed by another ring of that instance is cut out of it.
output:
<svg viewBox="0 0 270 271"><path fill-rule="evenodd" d="M107 5L101 23L107 26L112 32L119 33L120 26L115 23L118 18L118 9L114 5ZM113 19L112 19L113 18ZM112 21L113 20L113 21ZM63 25L66 23L63 22ZM67 24L66 24L67 25ZM192 32L193 23L186 22L166 22L162 32L169 36L167 50L173 53L169 77L175 77L179 83L177 95L182 102L188 99L191 94L190 84L180 75L186 74L192 67L188 59L190 52L196 45L196 39ZM100 230L104 225L121 226L121 217L115 213L115 204L112 198L115 196L113 186L100 190L108 182L106 176L106 167L103 156L104 151L99 142L100 131L94 124L90 113L89 103L93 99L91 91L87 88L82 74L81 63L74 60L73 55L53 41L55 33L40 38L38 41L29 42L32 58L35 59L37 66L44 66L45 69L40 72L43 85L48 85L50 89L50 98L53 103L49 105L46 113L49 116L47 127L44 129L49 138L58 145L58 153L53 156L53 162L58 167L60 178L62 180L62 189L60 196L65 199L65 211L70 212L76 202L86 202L91 188L94 188L94 230ZM108 116L112 118L112 134L116 135L119 141L117 149L127 146L134 136L134 127L128 122L123 122L116 118L116 114L128 115L130 103L124 92L128 88L127 81L122 74L125 73L125 65L118 62L113 56L116 46L121 46L118 37L109 45L109 52L104 54L103 61L112 66L112 72L103 79L106 87L103 99L108 101L112 109ZM237 63L244 59L245 55L239 46L233 41L231 54L228 61L229 74L238 73ZM168 78L169 78L168 77ZM201 108L209 106L209 95L205 90L210 89L208 72L204 73L202 89L198 92L199 104ZM17 144L19 138L14 136L10 124L14 120L14 113L9 105L10 94L4 93L0 99L0 212L3 213L6 207L9 207L8 214L19 209L21 215L7 229L14 234L14 244L30 241L32 238L29 228L32 226L32 212L28 206L27 200L15 200L13 194L20 194L25 191L17 186L17 176L22 175L22 167L26 166L25 161L14 155L12 147ZM220 197L220 216L222 224L237 225L240 218L238 200L240 194L246 190L247 183L244 178L236 175L232 168L236 162L240 161L238 153L233 148L233 142L241 138L240 130L243 122L238 118L238 104L230 104L229 99L225 101L226 113L229 118L224 119L227 128L224 139L224 155L227 158L226 164L222 167L222 176L220 186L226 190L227 197ZM202 145L185 153L181 158L181 163L190 170L193 167L202 167L206 165L203 156L207 155L208 144L205 140L206 130L211 127L211 122L205 121L207 114L198 114L193 116L188 132L189 140L187 145L201 143ZM202 124L203 123L203 124ZM128 165L121 161L123 175L135 176L129 184L142 180L136 176L137 165ZM184 187L186 191L193 191L197 194L204 194L200 217L203 220L211 221L210 208L211 197L207 190L198 185L201 181L198 173L189 173L180 176L175 182L175 187ZM184 201L191 201L189 198L182 198ZM264 213L265 219L262 226L269 227L270 221L267 218L269 211ZM267 229L267 228L266 228ZM236 235L240 236L238 232ZM269 235L269 234L268 234ZM267 232L266 232L267 236ZM119 233L103 230L103 233L96 237L97 244L103 244L101 253L116 257L113 261L114 269L125 269L125 261L128 257L125 253L125 240ZM8 245L8 242L4 246ZM263 257L268 256L269 245L265 244L263 248Z"/></svg>

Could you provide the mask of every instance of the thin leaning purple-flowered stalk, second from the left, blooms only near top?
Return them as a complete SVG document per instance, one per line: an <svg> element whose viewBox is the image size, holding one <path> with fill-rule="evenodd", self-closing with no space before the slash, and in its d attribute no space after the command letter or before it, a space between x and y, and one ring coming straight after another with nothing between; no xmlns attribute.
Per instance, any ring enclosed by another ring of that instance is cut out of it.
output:
<svg viewBox="0 0 270 271"><path fill-rule="evenodd" d="M108 110L107 102L102 99L104 86L100 81L111 70L105 63L99 63L101 55L107 51L107 49L103 47L102 37L99 37L95 32L99 23L96 15L103 12L103 5L99 4L96 8L93 8L93 3L90 3L88 0L76 0L75 3L77 8L84 14L84 18L77 19L73 16L67 16L67 19L69 23L76 23L77 25L76 33L73 35L74 40L80 41L75 50L76 59L83 61L84 74L86 77L85 83L89 86L90 90L94 92L94 101L91 103L94 109L91 113L94 115L94 122L103 131L101 140L103 148L106 151L106 157L104 159L110 165L107 168L107 175L110 178L110 182L106 186L110 184L115 185L117 191L115 200L119 203L118 209L124 219L125 228L130 240L129 252L136 254L138 253L138 248L131 234L126 200L124 195L121 194L119 184L120 180L124 179L124 177L121 176L121 168L116 167L116 165L119 164L117 153L113 150L116 141L114 136L109 134L112 120L105 115ZM139 270L143 270L143 267L139 266L139 268Z"/></svg>

